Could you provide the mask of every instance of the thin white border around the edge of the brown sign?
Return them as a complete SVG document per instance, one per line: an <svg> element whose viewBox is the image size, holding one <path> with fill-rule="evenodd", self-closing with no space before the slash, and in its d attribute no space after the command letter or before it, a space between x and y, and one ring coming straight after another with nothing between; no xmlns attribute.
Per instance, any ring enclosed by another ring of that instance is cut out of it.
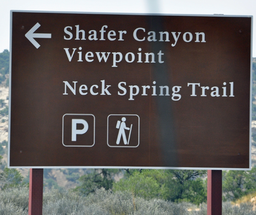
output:
<svg viewBox="0 0 256 215"><path fill-rule="evenodd" d="M155 16L205 16L205 17L249 17L251 18L251 55L250 55L250 131L249 131L249 168L176 168L176 167L159 167L159 166L10 166L10 131L11 131L11 63L12 63L12 13L64 13L64 14L101 14L101 15L155 15ZM224 15L224 14L158 14L158 13L102 13L102 12L67 12L67 11L10 11L10 66L9 66L9 116L8 116L8 163L9 169L167 169L167 170L251 170L251 116L252 116L252 38L253 38L253 16L252 15Z"/></svg>

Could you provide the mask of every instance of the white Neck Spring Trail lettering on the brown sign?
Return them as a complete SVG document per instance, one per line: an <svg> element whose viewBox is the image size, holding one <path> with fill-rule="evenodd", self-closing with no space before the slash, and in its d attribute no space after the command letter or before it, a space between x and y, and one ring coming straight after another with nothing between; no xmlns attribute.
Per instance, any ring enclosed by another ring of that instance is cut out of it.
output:
<svg viewBox="0 0 256 215"><path fill-rule="evenodd" d="M87 86L86 84L81 84L77 87L77 81L73 81L73 84L70 84L68 81L63 81L65 84L63 95L68 95L69 92L72 92L74 95L77 94L77 91L80 95L87 95L90 93L91 95L112 95L111 85L106 85L105 80L100 81L101 84L93 84L91 86ZM201 97L234 97L234 82L229 82L227 85L226 82L223 82L222 87L218 86L202 86L200 83L187 83L187 87L190 87L191 94L190 97L197 97L197 95ZM228 89L227 89L228 87ZM171 90L170 90L171 88ZM159 96L170 96L172 95L173 101L179 101L181 99L181 86L157 86L156 81L153 81L152 85L126 85L126 82L122 81L118 83L118 95L126 95L129 94L128 100L135 100L136 95L159 95ZM68 90L69 89L69 90Z"/></svg>

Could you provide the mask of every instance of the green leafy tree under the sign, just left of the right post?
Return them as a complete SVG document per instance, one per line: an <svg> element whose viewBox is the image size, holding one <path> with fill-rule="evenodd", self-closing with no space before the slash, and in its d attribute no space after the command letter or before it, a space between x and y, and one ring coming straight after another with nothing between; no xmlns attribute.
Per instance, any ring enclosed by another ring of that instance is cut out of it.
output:
<svg viewBox="0 0 256 215"><path fill-rule="evenodd" d="M206 201L206 185L202 176L206 171L196 170L137 170L126 172L113 190L128 190L146 199L161 198L173 202L188 201L200 204ZM129 176L130 175L130 176Z"/></svg>

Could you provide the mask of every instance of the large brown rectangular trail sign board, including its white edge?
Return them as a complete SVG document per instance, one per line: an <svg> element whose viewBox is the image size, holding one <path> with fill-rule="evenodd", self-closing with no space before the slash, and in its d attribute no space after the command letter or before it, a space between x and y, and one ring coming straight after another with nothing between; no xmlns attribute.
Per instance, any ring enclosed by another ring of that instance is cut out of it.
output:
<svg viewBox="0 0 256 215"><path fill-rule="evenodd" d="M251 35L252 16L11 11L8 167L250 169Z"/></svg>

